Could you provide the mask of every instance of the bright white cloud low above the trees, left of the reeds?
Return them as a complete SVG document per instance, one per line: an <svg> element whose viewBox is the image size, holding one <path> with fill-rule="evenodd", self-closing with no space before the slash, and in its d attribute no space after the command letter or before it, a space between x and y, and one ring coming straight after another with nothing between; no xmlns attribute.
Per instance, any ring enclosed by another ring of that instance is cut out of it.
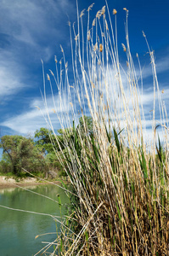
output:
<svg viewBox="0 0 169 256"><path fill-rule="evenodd" d="M58 116L63 118L65 113L69 113L69 101L65 99L61 108L59 107L58 96L55 97L55 106L52 96L47 97L47 102L48 108L45 108L42 99L37 98L30 103L27 111L6 119L1 125L6 126L13 131L18 131L21 134L33 134L37 129L50 125L48 119L49 116L54 126L54 130L58 130L60 128Z"/></svg>

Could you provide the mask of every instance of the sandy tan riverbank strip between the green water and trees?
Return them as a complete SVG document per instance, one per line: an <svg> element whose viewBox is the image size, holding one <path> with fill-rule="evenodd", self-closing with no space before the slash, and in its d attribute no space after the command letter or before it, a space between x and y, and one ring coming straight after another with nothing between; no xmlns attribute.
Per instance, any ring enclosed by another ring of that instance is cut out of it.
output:
<svg viewBox="0 0 169 256"><path fill-rule="evenodd" d="M27 185L40 185L47 184L48 181L40 181L36 177L22 177L22 178L14 178L8 176L0 176L0 189L4 188L14 188L17 185L20 187L24 187ZM59 181L53 181L53 183L59 183Z"/></svg>

